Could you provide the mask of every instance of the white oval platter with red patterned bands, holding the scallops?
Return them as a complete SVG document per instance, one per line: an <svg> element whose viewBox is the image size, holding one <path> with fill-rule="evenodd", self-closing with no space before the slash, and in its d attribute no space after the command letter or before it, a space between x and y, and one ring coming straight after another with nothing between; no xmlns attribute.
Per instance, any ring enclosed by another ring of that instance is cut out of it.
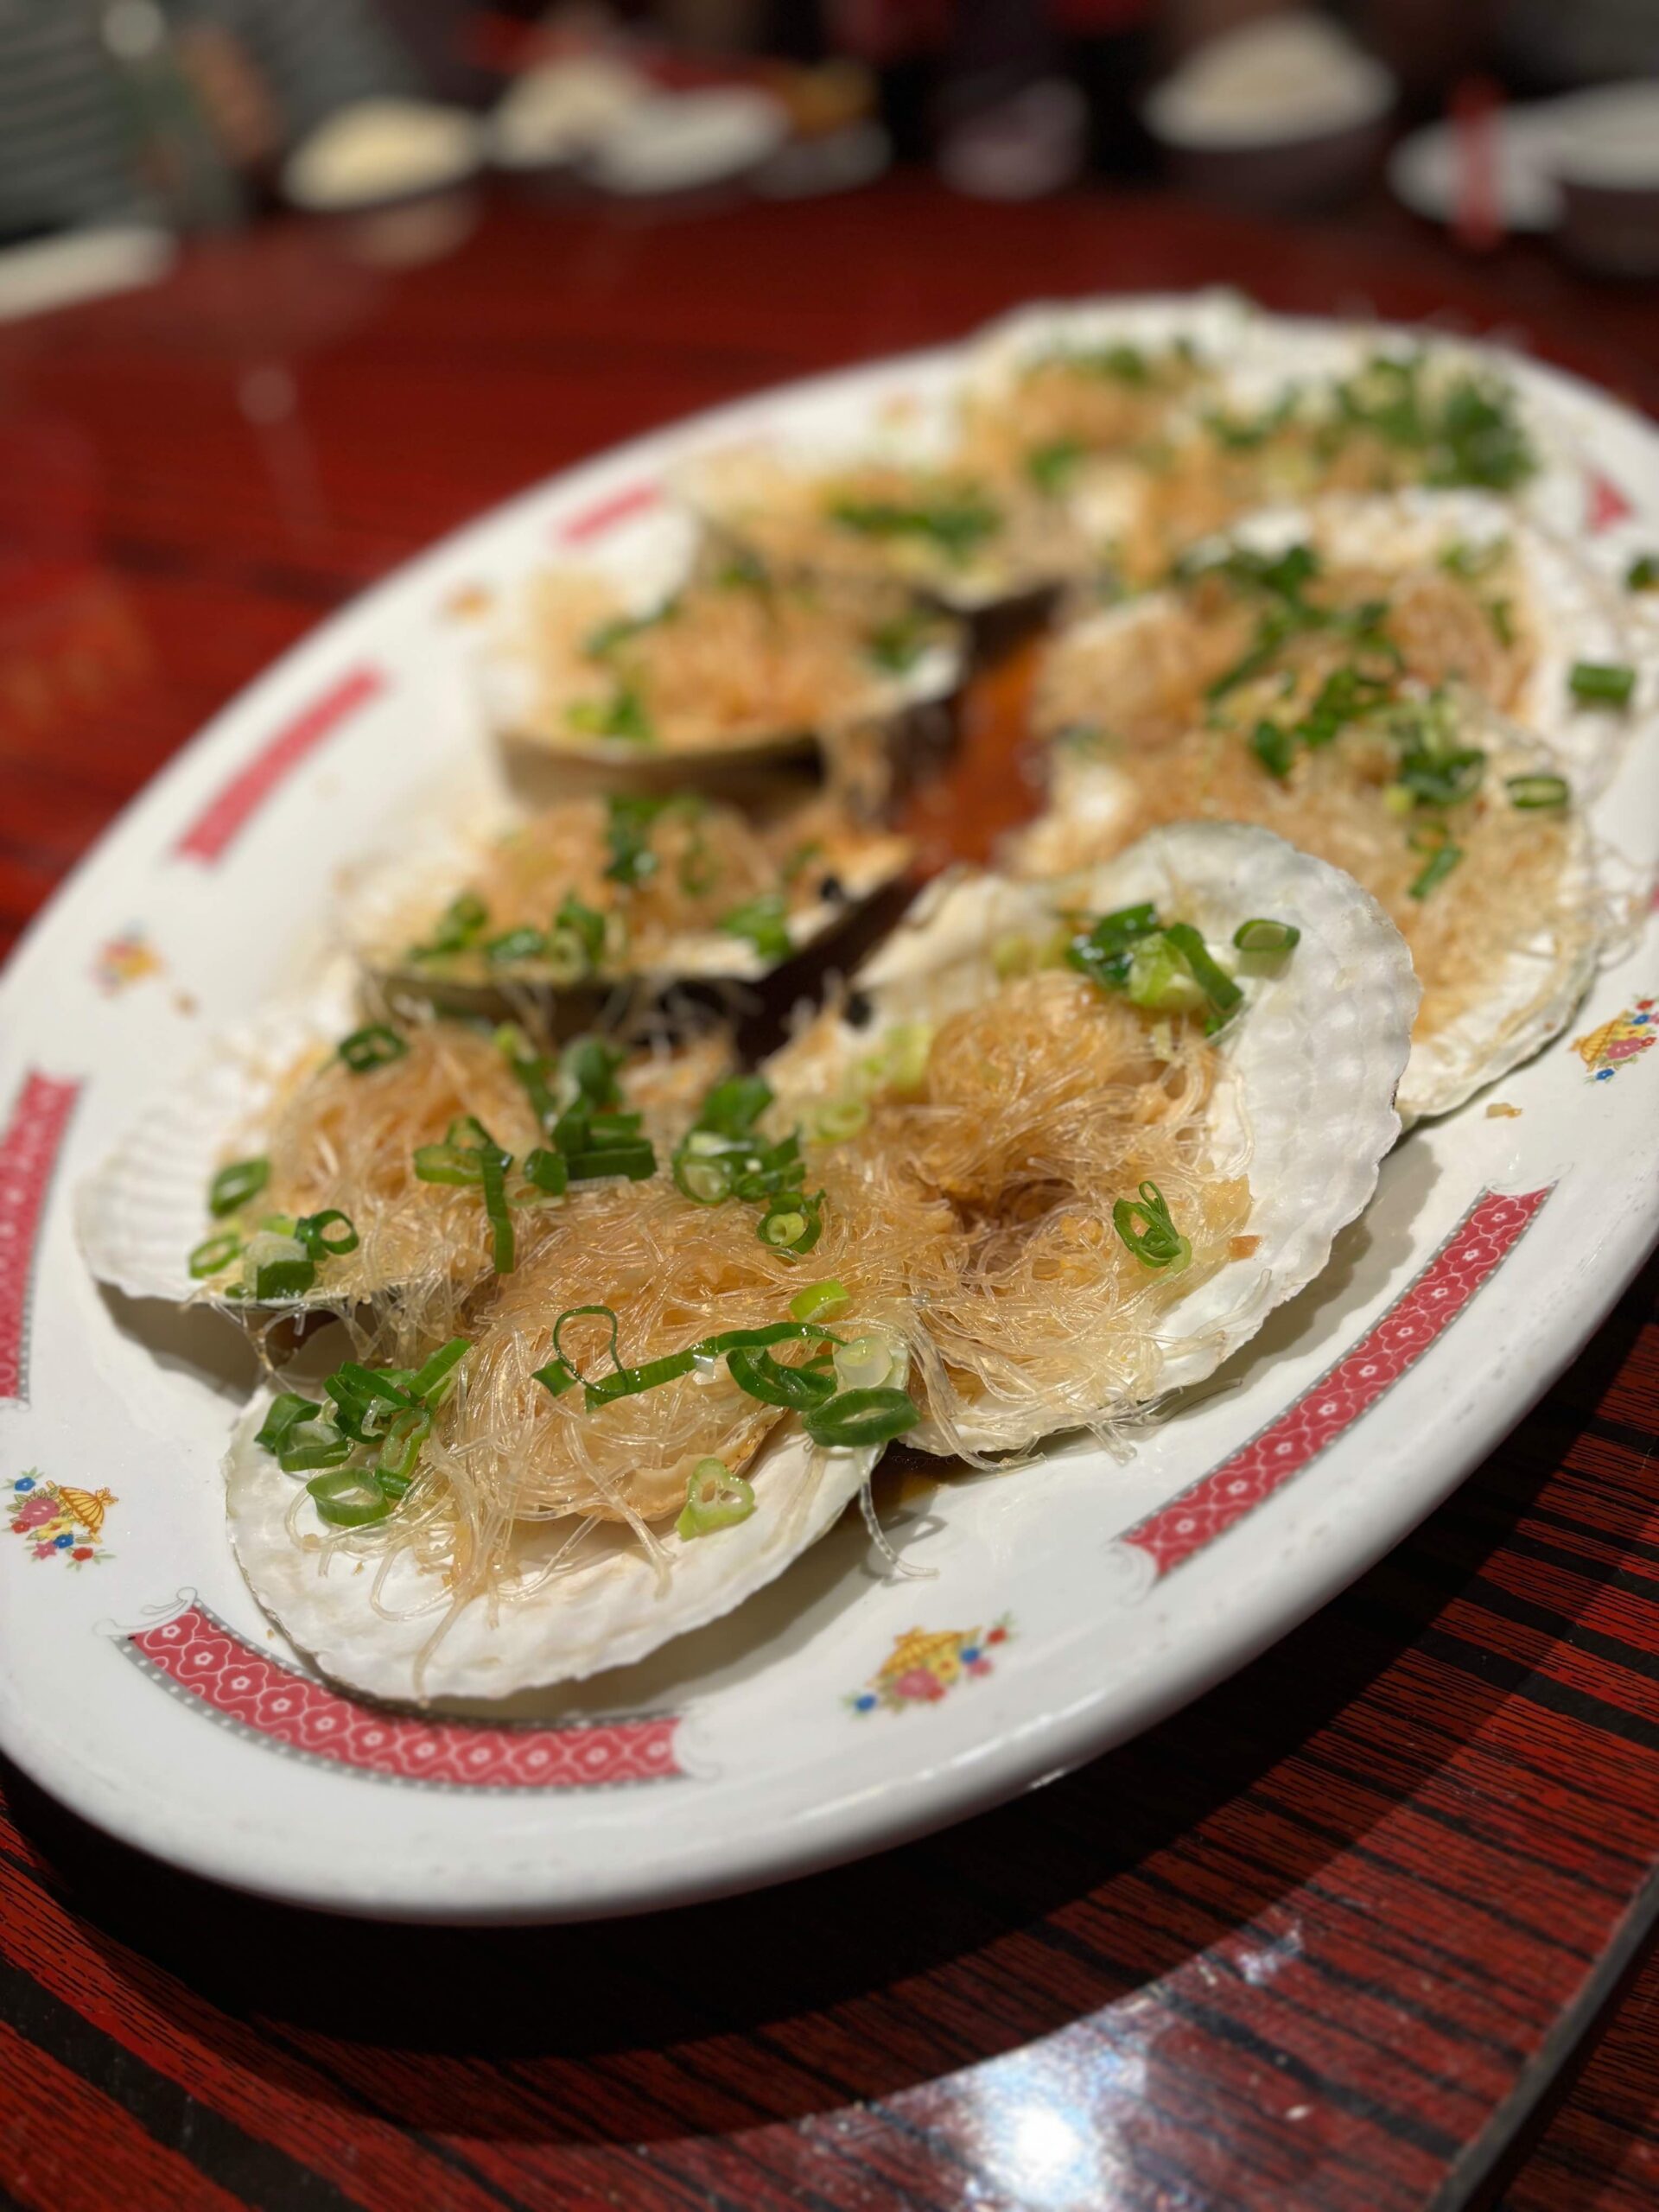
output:
<svg viewBox="0 0 1659 2212"><path fill-rule="evenodd" d="M1181 325L1188 305L1139 303ZM1332 325L1272 325L1301 354ZM1506 367L1568 431L1555 522L1659 542L1659 436ZM1057 1449L849 1515L739 1615L509 1712L354 1703L283 1646L226 1540L252 1380L232 1329L102 1294L73 1190L204 1035L327 949L343 876L476 781L469 608L560 546L641 560L688 456L936 407L951 352L763 394L513 500L246 690L122 816L0 987L0 1745L88 1820L334 1911L553 1920L805 1874L1146 1728L1283 1635L1500 1444L1659 1230L1659 929L1546 1053L1389 1157L1334 1265L1128 1462ZM1582 460L1577 456L1584 456ZM385 792L403 796L394 807ZM407 812L403 812L407 807ZM1641 732L1595 823L1659 854ZM1579 1040L1579 1042L1575 1042ZM1491 1104L1515 1113L1489 1113Z"/></svg>

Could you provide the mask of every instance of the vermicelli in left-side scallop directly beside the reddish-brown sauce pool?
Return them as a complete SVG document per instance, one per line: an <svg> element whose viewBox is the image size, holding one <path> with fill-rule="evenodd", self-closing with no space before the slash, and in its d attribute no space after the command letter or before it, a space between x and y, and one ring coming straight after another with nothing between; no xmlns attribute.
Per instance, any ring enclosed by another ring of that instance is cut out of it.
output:
<svg viewBox="0 0 1659 2212"><path fill-rule="evenodd" d="M653 752L810 734L869 710L891 686L872 644L909 615L900 593L869 580L849 588L712 573L692 577L655 619L622 628L626 608L602 580L551 571L533 588L524 637L538 681L533 728L568 739L626 690ZM599 650L606 626L613 641ZM940 624L931 630L947 635Z"/></svg>

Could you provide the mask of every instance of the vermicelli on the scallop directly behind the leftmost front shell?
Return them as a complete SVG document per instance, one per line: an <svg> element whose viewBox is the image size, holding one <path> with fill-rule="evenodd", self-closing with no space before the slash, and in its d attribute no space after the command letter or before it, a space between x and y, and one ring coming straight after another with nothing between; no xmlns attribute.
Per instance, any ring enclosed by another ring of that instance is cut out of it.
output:
<svg viewBox="0 0 1659 2212"><path fill-rule="evenodd" d="M613 818L604 799L566 799L489 847L467 883L487 911L480 933L544 931L562 900L575 896L613 922L604 971L650 971L672 962L679 940L717 929L748 900L779 898L785 916L803 914L825 896L856 896L880 883L909 854L902 838L863 827L827 796L750 818L681 792L637 823L644 852L633 880L619 880L608 874ZM407 902L376 927L383 958L405 958L405 947L427 942L436 922L429 898ZM533 971L535 960L529 953L515 969ZM422 971L462 982L502 980L482 949L425 958Z"/></svg>

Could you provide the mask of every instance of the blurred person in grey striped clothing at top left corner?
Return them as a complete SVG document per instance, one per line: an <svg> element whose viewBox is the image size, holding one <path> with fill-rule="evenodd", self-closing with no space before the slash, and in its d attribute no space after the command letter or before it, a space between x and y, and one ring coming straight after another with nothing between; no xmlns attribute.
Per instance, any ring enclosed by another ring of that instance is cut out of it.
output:
<svg viewBox="0 0 1659 2212"><path fill-rule="evenodd" d="M0 239L234 221L316 122L414 84L374 0L0 0Z"/></svg>

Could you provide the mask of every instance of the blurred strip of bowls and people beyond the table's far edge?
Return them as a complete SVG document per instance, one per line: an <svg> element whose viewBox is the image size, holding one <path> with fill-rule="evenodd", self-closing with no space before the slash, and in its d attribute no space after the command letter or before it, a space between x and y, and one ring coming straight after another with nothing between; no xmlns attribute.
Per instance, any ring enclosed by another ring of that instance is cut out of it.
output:
<svg viewBox="0 0 1659 2212"><path fill-rule="evenodd" d="M664 199L1086 177L1336 206L1650 274L1655 0L7 0L0 239L409 201L482 170ZM453 228L453 226L451 226ZM438 232L434 232L438 237ZM64 279L69 281L69 279Z"/></svg>

